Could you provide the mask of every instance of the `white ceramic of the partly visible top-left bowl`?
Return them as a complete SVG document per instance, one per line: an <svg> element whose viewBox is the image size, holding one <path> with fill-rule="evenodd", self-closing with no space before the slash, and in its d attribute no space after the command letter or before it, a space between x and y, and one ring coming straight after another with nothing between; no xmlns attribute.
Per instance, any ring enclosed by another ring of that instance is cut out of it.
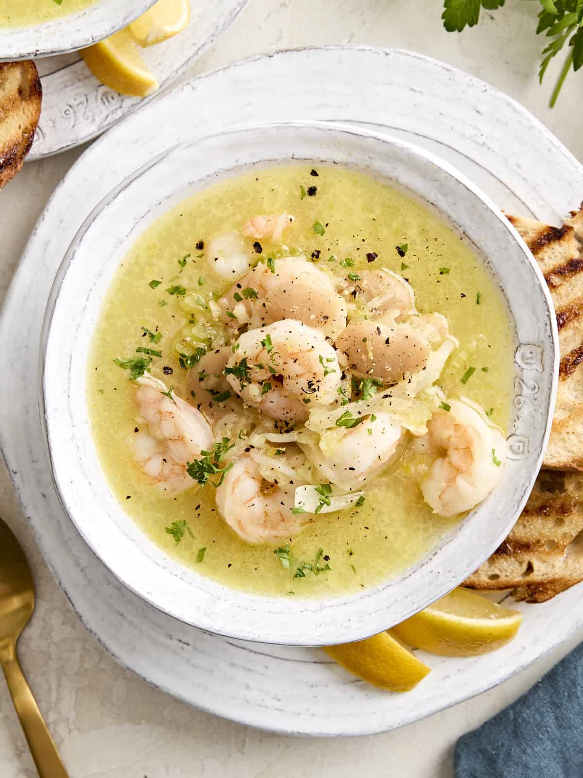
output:
<svg viewBox="0 0 583 778"><path fill-rule="evenodd" d="M0 27L0 61L49 57L91 46L117 33L154 3L155 0L96 0L88 8L52 22Z"/></svg>

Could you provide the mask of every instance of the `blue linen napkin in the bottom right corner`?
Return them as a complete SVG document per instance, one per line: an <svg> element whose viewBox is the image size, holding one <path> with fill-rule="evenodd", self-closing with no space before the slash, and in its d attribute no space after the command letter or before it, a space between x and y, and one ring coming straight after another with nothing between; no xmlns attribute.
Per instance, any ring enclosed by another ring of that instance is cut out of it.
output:
<svg viewBox="0 0 583 778"><path fill-rule="evenodd" d="M459 738L454 764L456 778L583 778L583 643Z"/></svg>

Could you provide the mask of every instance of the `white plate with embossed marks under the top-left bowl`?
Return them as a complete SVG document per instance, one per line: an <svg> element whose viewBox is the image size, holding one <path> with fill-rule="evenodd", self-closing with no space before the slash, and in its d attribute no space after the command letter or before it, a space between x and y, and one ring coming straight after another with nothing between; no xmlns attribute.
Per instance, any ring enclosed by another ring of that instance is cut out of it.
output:
<svg viewBox="0 0 583 778"><path fill-rule="evenodd" d="M141 51L160 84L158 92L143 100L120 95L103 86L91 75L79 53L38 60L43 110L27 160L72 149L155 98L190 62L201 56L246 3L247 0L190 0L187 29L163 44Z"/></svg>

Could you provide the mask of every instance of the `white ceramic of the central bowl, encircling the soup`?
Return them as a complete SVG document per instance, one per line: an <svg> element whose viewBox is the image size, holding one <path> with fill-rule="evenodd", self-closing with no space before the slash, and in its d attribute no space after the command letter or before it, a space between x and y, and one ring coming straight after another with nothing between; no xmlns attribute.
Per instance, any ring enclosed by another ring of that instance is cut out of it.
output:
<svg viewBox="0 0 583 778"><path fill-rule="evenodd" d="M499 487L428 555L374 589L330 599L233 591L166 556L110 492L91 435L87 354L103 297L128 249L162 213L250 167L340 163L404 187L441 212L483 258L513 322L515 397ZM136 170L77 233L58 272L41 343L42 415L61 502L99 559L132 591L194 626L242 640L326 645L378 633L442 597L494 551L539 470L557 380L552 303L529 251L461 173L387 135L302 122L234 128L184 142Z"/></svg>

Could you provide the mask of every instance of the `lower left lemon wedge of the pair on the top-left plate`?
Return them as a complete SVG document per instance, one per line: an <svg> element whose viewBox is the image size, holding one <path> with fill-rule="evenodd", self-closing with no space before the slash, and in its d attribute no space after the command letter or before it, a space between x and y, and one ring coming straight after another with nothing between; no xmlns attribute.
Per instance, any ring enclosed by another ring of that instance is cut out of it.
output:
<svg viewBox="0 0 583 778"><path fill-rule="evenodd" d="M96 79L116 92L145 97L158 89L127 28L83 49L81 56Z"/></svg>

